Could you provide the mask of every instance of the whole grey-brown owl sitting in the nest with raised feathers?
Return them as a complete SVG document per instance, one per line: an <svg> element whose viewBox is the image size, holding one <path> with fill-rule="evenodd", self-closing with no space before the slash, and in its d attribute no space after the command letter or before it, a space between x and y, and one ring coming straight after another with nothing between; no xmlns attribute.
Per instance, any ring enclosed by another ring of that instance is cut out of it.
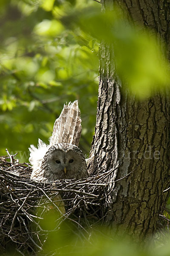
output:
<svg viewBox="0 0 170 256"><path fill-rule="evenodd" d="M54 181L88 177L85 157L78 148L82 126L78 102L64 108L54 123L53 133L46 145L39 139L37 148L29 148L32 180Z"/></svg>

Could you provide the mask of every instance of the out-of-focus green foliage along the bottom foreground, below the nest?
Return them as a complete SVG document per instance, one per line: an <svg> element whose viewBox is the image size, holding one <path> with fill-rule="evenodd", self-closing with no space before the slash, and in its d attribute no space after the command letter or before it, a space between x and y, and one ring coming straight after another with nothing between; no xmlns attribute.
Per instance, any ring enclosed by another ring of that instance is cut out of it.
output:
<svg viewBox="0 0 170 256"><path fill-rule="evenodd" d="M170 241L165 233L163 236L158 234L156 243L150 237L147 242L136 244L125 233L117 234L104 226L92 225L90 230L85 231L64 216L57 220L59 216L54 209L49 210L44 217L40 225L42 229L50 230L43 245L46 253L53 251L54 255L65 256L169 256Z"/></svg>

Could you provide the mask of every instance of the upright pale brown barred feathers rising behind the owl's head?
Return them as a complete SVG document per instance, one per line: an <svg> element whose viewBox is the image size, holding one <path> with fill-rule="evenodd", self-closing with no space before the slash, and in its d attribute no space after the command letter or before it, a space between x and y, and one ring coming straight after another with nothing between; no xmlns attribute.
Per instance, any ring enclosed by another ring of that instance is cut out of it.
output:
<svg viewBox="0 0 170 256"><path fill-rule="evenodd" d="M54 123L50 146L59 143L69 143L78 146L82 131L81 121L77 100L64 105L59 118Z"/></svg>

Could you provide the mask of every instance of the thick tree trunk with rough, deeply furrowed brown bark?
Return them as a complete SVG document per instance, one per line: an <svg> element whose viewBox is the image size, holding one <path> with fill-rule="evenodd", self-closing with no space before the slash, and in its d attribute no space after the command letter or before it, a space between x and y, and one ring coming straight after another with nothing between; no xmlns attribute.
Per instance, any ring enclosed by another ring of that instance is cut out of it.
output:
<svg viewBox="0 0 170 256"><path fill-rule="evenodd" d="M104 10L114 8L115 2L126 9L133 22L154 29L167 43L170 59L170 1L104 0ZM143 102L127 91L122 94L112 46L103 42L99 54L99 98L91 147L95 157L90 170L105 172L120 166L110 181L133 171L110 183L106 221L139 241L156 231L159 213L169 196L169 191L163 191L170 184L170 101L165 94Z"/></svg>

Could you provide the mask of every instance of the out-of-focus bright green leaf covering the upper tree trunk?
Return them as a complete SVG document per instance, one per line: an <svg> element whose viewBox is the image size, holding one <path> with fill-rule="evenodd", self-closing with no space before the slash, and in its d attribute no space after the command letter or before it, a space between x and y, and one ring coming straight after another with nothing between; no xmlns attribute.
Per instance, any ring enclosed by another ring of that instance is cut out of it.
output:
<svg viewBox="0 0 170 256"><path fill-rule="evenodd" d="M98 9L87 8L69 17L72 26L78 23L83 32L113 44L113 61L123 86L129 87L138 98L144 99L158 90L165 90L170 83L170 64L159 39L153 32L132 26L120 9L100 13ZM68 26L71 24L68 24L68 17L63 17L63 22Z"/></svg>

